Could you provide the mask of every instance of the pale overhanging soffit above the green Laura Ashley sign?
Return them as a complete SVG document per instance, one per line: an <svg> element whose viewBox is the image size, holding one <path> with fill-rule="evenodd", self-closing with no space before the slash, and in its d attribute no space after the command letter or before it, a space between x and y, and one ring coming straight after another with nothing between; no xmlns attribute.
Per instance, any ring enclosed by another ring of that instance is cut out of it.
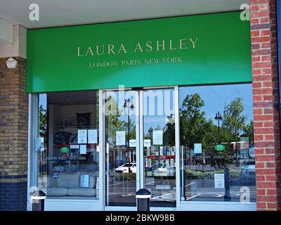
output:
<svg viewBox="0 0 281 225"><path fill-rule="evenodd" d="M236 11L245 0L0 0L0 18L27 28ZM30 4L39 5L31 21Z"/></svg>

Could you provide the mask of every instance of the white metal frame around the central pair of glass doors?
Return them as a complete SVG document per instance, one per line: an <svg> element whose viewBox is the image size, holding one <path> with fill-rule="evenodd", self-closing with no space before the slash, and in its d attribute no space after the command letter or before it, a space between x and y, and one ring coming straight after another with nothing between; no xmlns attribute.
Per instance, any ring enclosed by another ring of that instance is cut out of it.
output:
<svg viewBox="0 0 281 225"><path fill-rule="evenodd" d="M136 91L136 162L137 162L137 169L136 169L136 191L140 188L144 187L144 155L143 155L143 91L146 90L154 90L154 89L174 89L174 115L175 115L175 144L176 144L176 207L151 207L152 211L175 211L179 209L180 206L180 156L179 156L179 102L178 102L178 86L157 86L157 87L150 87L150 88L144 88L143 90ZM101 175L103 176L102 179L100 179L100 184L103 186L102 193L100 193L103 196L103 207L105 211L109 210L122 210L126 209L126 211L136 211L136 207L124 207L124 206L106 206L106 174L105 174L105 153L106 153L106 146L105 146L105 115L103 114L105 110L105 93L107 91L129 91L131 89L104 89L100 90L100 103L102 106L100 107L100 143L103 143L102 146L100 146L100 149L102 150L102 154L100 154L101 160L101 166L100 170ZM101 191L101 190L100 190Z"/></svg>

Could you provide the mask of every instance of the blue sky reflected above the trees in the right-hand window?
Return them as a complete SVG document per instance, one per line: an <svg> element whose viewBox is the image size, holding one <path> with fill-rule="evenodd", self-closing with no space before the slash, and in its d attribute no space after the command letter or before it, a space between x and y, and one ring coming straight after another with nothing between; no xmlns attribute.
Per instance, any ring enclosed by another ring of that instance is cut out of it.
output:
<svg viewBox="0 0 281 225"><path fill-rule="evenodd" d="M244 104L244 115L247 115L247 123L253 119L253 94L251 84L229 84L229 85L210 85L210 86L186 86L180 88L180 107L187 94L200 94L204 100L202 111L206 113L207 120L214 120L218 111L223 116L223 109L235 98L242 98Z"/></svg>

